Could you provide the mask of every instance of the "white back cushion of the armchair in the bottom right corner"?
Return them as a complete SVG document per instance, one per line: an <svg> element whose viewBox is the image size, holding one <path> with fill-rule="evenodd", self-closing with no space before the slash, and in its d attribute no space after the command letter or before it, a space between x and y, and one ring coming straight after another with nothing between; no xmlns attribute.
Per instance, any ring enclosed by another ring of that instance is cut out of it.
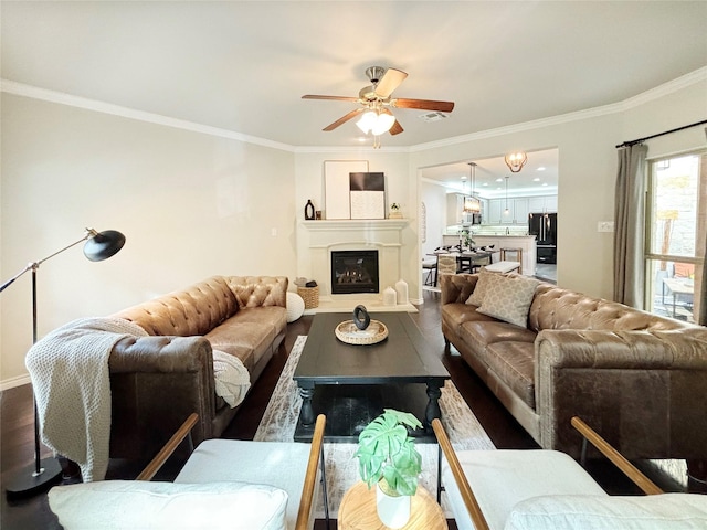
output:
<svg viewBox="0 0 707 530"><path fill-rule="evenodd" d="M707 496L542 496L516 505L506 530L696 530L707 528Z"/></svg>

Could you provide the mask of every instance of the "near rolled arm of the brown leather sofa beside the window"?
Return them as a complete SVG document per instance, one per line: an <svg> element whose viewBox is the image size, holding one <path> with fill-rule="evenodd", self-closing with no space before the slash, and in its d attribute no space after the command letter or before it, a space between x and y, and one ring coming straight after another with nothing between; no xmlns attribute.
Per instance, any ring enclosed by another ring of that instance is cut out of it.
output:
<svg viewBox="0 0 707 530"><path fill-rule="evenodd" d="M706 458L707 333L544 330L535 342L540 445L579 456L581 416L627 458Z"/></svg>

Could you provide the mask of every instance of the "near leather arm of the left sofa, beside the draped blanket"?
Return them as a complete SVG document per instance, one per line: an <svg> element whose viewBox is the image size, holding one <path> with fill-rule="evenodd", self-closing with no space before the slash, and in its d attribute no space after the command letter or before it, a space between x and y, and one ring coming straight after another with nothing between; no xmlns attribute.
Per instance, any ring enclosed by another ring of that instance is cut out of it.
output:
<svg viewBox="0 0 707 530"><path fill-rule="evenodd" d="M215 382L203 337L140 337L118 341L110 370L110 456L152 455L191 413L193 441L213 437Z"/></svg>

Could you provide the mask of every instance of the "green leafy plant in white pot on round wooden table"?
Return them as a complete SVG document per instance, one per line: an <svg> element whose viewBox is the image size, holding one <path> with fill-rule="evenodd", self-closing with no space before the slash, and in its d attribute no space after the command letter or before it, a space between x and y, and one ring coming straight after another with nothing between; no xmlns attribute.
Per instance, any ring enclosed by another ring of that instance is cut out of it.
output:
<svg viewBox="0 0 707 530"><path fill-rule="evenodd" d="M408 435L421 428L409 412L384 409L358 437L355 455L359 474L369 489L376 485L378 517L389 528L401 528L410 518L410 498L418 490L422 456Z"/></svg>

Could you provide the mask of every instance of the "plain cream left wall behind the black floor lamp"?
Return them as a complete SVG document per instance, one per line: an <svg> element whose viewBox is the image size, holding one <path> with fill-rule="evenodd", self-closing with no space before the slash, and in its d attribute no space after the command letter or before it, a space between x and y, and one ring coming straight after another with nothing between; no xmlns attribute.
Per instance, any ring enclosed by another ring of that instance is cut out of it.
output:
<svg viewBox="0 0 707 530"><path fill-rule="evenodd" d="M80 245L40 267L40 337L214 274L294 279L293 152L8 94L1 103L2 280L86 225L127 237L105 262ZM7 383L25 374L30 273L2 293L0 315Z"/></svg>

